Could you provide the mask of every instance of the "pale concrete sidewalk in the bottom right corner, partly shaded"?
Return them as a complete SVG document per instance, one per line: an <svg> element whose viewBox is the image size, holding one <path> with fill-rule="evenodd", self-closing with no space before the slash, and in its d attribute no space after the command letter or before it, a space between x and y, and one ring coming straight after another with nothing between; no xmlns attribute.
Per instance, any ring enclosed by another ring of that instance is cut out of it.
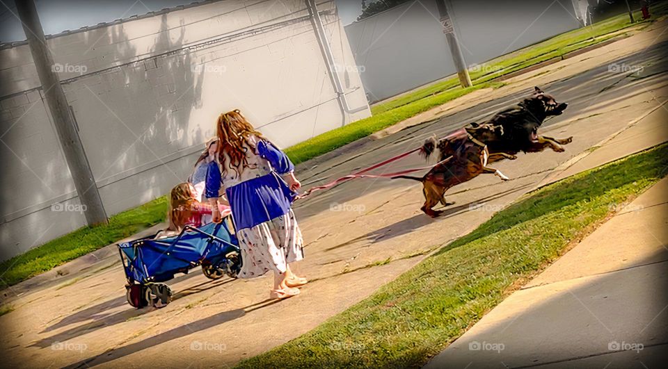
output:
<svg viewBox="0 0 668 369"><path fill-rule="evenodd" d="M662 368L668 178L644 192L425 368Z"/></svg>

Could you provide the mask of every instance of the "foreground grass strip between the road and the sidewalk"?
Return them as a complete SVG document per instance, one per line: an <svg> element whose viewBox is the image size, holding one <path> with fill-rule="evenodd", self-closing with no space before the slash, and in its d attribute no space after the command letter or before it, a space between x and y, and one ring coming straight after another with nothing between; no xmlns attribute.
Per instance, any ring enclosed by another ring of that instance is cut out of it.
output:
<svg viewBox="0 0 668 369"><path fill-rule="evenodd" d="M664 144L541 188L362 302L238 367L421 366L667 166Z"/></svg>

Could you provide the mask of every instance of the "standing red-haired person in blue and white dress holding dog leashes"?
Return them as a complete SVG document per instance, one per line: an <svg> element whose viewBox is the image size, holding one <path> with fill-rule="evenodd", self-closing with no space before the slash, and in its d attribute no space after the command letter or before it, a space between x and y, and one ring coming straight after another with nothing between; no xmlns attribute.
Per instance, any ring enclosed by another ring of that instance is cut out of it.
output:
<svg viewBox="0 0 668 369"><path fill-rule="evenodd" d="M299 294L306 284L289 263L303 259L301 231L292 212L292 201L301 186L294 165L269 140L256 131L239 110L221 114L216 122L218 155L209 164L206 196L214 222L218 190L225 188L243 261L240 278L274 273L272 298Z"/></svg>

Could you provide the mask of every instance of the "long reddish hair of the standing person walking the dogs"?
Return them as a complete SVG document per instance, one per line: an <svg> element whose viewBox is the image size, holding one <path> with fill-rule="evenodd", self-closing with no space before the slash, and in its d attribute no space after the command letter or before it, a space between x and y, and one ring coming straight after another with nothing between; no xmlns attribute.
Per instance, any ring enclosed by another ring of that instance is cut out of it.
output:
<svg viewBox="0 0 668 369"><path fill-rule="evenodd" d="M256 131L244 115L241 115L239 109L218 116L216 134L218 135L218 162L221 163L223 172L232 169L237 174L240 172L237 168L243 170L244 167L248 166L246 151L248 151L248 147L252 146L248 142L248 138L256 136L265 139L262 133ZM230 158L229 163L226 163L224 154L227 154Z"/></svg>

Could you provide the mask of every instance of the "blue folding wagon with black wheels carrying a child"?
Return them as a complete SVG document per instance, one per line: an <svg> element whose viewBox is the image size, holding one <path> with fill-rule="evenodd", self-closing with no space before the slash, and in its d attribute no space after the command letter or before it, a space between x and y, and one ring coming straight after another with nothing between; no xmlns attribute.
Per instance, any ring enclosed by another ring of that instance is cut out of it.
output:
<svg viewBox="0 0 668 369"><path fill-rule="evenodd" d="M209 279L225 274L236 278L241 269L241 254L237 237L230 229L225 220L200 228L186 226L178 236L155 238L156 233L118 244L127 279L127 302L137 309L165 306L172 293L164 282L198 265Z"/></svg>

